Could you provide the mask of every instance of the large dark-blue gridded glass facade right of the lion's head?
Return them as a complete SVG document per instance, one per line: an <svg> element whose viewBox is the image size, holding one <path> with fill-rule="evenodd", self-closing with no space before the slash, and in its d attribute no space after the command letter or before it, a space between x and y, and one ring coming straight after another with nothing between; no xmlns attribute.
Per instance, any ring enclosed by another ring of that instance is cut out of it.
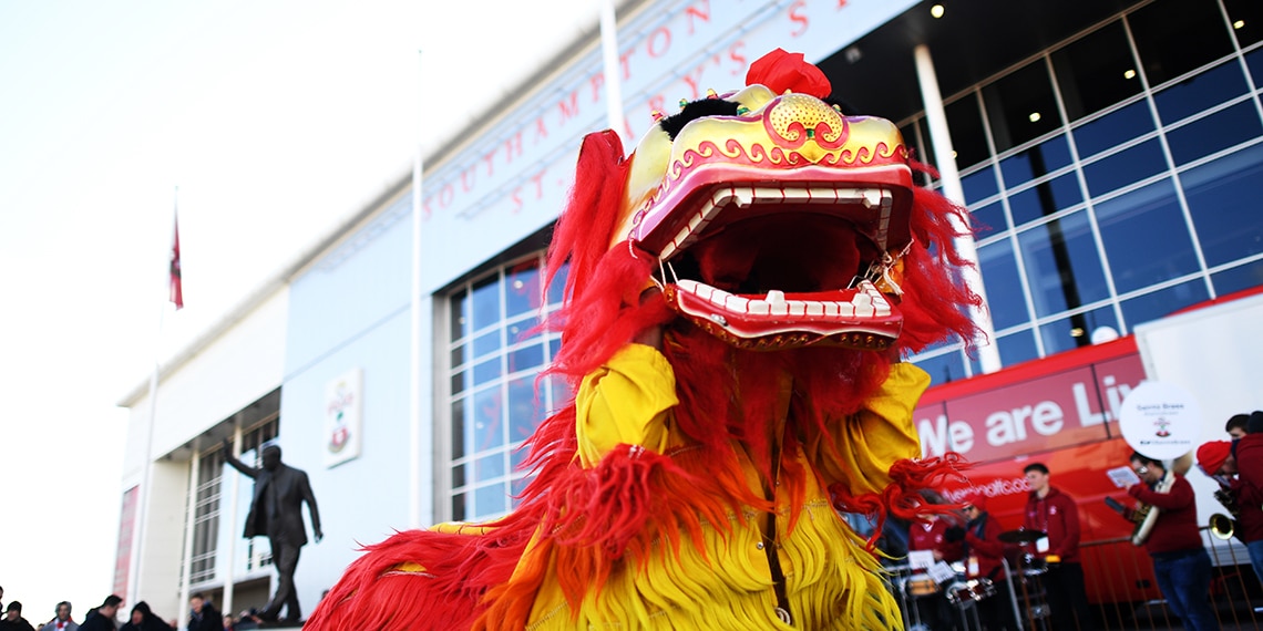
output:
<svg viewBox="0 0 1263 631"><path fill-rule="evenodd" d="M1157 0L947 98L1004 365L1263 284L1260 13ZM933 155L923 115L901 129Z"/></svg>

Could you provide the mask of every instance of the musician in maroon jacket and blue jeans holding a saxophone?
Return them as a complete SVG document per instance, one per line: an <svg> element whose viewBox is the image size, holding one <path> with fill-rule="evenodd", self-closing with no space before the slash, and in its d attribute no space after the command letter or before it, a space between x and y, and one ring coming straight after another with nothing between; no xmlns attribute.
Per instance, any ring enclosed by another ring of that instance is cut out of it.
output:
<svg viewBox="0 0 1263 631"><path fill-rule="evenodd" d="M1158 589L1171 613L1187 631L1219 631L1219 621L1207 601L1210 596L1210 555L1201 543L1197 502L1192 485L1183 476L1167 471L1161 461L1133 452L1132 469L1140 481L1127 493L1157 510L1157 519L1144 536L1144 549L1153 559ZM1147 520L1148 521L1148 520Z"/></svg>

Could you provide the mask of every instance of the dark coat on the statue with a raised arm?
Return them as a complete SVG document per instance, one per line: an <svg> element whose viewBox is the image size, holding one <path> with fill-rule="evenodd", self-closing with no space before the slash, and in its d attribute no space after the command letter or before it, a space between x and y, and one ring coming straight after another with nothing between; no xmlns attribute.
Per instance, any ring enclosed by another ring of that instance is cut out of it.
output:
<svg viewBox="0 0 1263 631"><path fill-rule="evenodd" d="M254 468L229 459L234 468L254 478L254 497L250 500L250 512L245 517L242 536L269 536L292 545L307 545L307 529L303 526L303 502L312 516L312 530L320 533L320 510L312 493L307 473L287 464L278 464L275 471ZM268 488L273 492L269 493ZM272 500L269 502L269 498Z"/></svg>

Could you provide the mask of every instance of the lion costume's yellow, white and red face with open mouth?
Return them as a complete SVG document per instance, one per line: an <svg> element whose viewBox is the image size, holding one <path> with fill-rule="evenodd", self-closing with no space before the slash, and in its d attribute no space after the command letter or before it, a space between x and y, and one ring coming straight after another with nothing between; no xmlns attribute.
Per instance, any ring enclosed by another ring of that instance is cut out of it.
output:
<svg viewBox="0 0 1263 631"><path fill-rule="evenodd" d="M763 86L727 98L686 105L633 160L625 235L669 304L745 348L888 347L911 242L898 127Z"/></svg>

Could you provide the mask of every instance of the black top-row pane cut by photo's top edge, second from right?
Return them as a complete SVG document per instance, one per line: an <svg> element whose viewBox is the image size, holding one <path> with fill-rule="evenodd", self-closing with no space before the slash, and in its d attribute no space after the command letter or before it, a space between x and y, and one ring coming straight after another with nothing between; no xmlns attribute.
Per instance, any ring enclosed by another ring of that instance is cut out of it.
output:
<svg viewBox="0 0 1263 631"><path fill-rule="evenodd" d="M1233 52L1216 3L1157 0L1127 19L1151 86Z"/></svg>

